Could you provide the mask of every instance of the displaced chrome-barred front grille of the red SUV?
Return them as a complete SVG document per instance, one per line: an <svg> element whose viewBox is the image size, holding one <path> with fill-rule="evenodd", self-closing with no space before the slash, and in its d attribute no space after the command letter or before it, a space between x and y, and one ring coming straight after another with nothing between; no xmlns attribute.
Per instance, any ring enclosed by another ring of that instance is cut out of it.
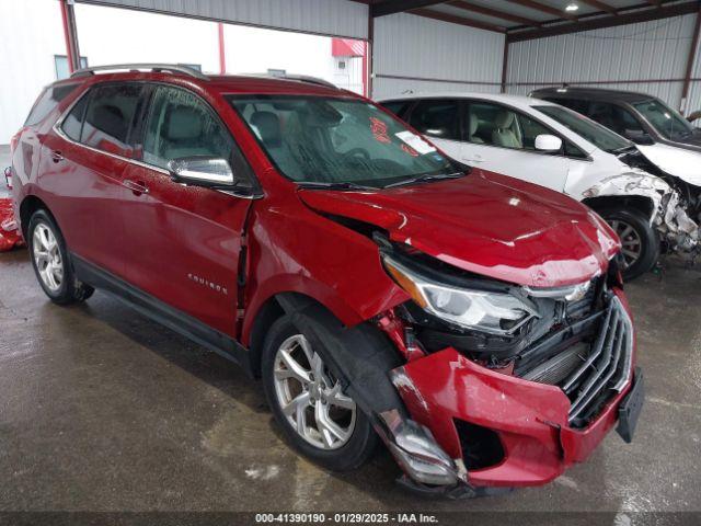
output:
<svg viewBox="0 0 701 526"><path fill-rule="evenodd" d="M585 426L625 387L632 353L633 327L621 301L613 296L588 356L560 386L572 401L568 414L572 426Z"/></svg>

